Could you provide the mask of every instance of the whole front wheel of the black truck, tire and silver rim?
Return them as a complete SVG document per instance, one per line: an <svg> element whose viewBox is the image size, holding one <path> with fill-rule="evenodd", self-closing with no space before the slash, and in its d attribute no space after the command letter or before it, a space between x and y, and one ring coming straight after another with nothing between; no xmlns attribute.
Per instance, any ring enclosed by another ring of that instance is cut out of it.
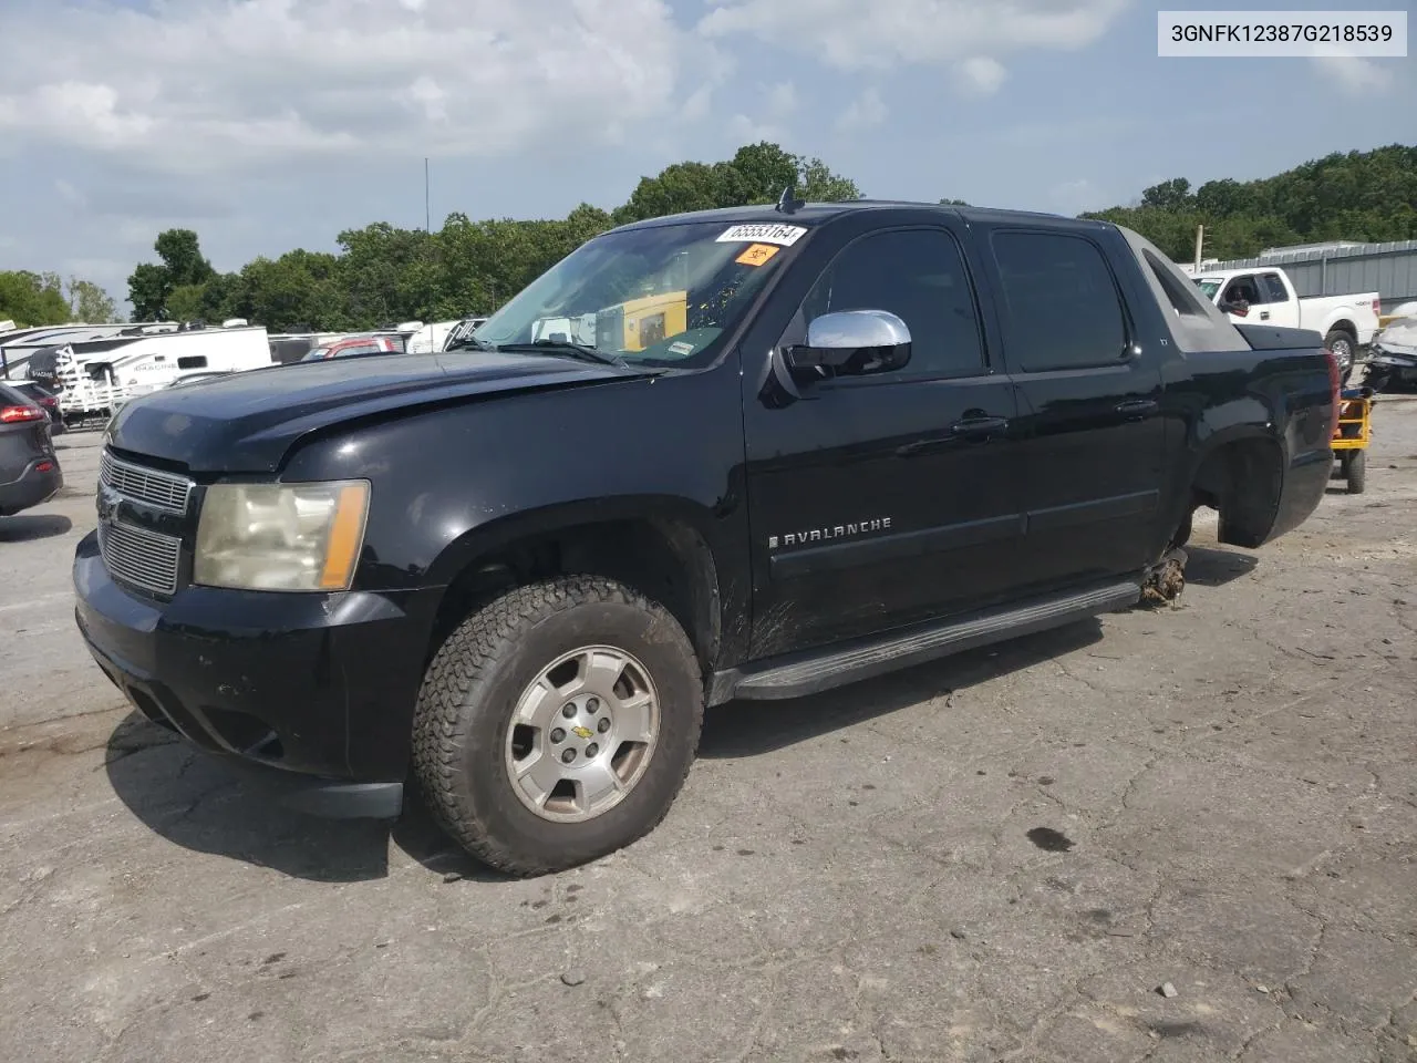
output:
<svg viewBox="0 0 1417 1063"><path fill-rule="evenodd" d="M504 594L438 649L414 771L469 853L543 874L649 833L701 726L697 658L669 611L612 580L561 577Z"/></svg>

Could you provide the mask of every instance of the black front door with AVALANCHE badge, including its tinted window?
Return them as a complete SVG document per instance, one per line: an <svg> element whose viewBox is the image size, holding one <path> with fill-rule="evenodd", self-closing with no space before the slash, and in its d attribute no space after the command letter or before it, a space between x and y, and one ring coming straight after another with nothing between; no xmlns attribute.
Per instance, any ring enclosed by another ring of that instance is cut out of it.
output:
<svg viewBox="0 0 1417 1063"><path fill-rule="evenodd" d="M908 364L808 384L795 401L744 395L758 658L959 612L1013 575L1015 403L956 230L846 242L779 343L852 309L898 315Z"/></svg>

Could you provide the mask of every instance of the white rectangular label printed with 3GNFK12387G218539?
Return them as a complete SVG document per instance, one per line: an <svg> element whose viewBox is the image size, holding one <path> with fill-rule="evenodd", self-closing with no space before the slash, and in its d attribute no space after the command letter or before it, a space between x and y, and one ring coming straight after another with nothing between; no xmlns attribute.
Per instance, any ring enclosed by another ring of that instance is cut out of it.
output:
<svg viewBox="0 0 1417 1063"><path fill-rule="evenodd" d="M1407 11L1158 11L1156 54L1407 58Z"/></svg>

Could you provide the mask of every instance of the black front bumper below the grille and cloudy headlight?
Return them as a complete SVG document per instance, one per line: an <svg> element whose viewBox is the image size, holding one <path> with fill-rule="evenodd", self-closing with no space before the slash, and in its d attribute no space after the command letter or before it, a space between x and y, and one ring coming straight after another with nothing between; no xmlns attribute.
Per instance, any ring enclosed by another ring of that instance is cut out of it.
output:
<svg viewBox="0 0 1417 1063"><path fill-rule="evenodd" d="M293 808L400 814L432 598L187 587L171 601L116 584L89 533L75 621L149 720L265 775Z"/></svg>

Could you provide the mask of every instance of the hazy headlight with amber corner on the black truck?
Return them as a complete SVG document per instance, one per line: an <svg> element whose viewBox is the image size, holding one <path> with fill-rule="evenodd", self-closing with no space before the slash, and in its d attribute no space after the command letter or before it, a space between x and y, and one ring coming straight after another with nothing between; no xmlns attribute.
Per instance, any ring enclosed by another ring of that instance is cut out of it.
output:
<svg viewBox="0 0 1417 1063"><path fill-rule="evenodd" d="M364 543L368 482L215 483L197 522L193 583L344 591Z"/></svg>

